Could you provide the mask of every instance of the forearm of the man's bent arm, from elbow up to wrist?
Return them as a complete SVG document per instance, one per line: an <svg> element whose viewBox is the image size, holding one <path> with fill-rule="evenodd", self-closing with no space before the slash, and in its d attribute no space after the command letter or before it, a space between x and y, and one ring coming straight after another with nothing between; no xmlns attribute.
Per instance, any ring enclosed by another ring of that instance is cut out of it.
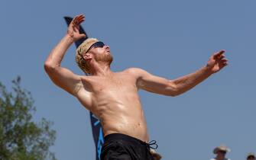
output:
<svg viewBox="0 0 256 160"><path fill-rule="evenodd" d="M73 38L71 38L69 35L63 37L63 39L60 40L57 46L54 47L50 55L47 57L45 65L51 66L53 68L56 66L60 66L60 63L63 59L63 56L66 53L66 50L71 46L72 43Z"/></svg>

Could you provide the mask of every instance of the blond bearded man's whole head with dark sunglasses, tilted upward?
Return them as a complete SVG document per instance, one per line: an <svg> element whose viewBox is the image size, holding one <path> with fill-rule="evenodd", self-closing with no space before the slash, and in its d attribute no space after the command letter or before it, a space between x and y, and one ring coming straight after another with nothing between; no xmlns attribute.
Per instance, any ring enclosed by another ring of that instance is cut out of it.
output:
<svg viewBox="0 0 256 160"><path fill-rule="evenodd" d="M83 72L90 73L90 62L110 66L113 58L109 46L96 38L88 38L76 49L76 63Z"/></svg>

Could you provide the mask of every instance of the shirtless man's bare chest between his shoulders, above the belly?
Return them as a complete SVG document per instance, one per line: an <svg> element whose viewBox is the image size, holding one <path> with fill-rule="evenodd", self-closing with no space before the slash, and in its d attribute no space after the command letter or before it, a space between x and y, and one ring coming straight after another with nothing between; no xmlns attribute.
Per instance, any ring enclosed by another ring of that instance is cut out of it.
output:
<svg viewBox="0 0 256 160"><path fill-rule="evenodd" d="M131 75L85 77L83 86L84 91L80 92L79 101L91 110L107 106L131 106L131 102L135 100L137 102L139 99L137 79ZM87 93L88 98L85 96ZM89 101L88 104L87 101Z"/></svg>

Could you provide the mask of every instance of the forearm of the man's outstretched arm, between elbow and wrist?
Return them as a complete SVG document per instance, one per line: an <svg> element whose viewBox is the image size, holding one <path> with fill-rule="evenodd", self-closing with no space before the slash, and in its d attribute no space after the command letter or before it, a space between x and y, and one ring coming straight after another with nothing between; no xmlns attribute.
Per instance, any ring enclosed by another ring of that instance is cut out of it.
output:
<svg viewBox="0 0 256 160"><path fill-rule="evenodd" d="M212 72L210 72L207 66L204 66L196 72L174 79L172 82L176 86L177 94L182 94L186 91L189 91L200 82L203 82L203 80L208 78L210 75L212 75Z"/></svg>

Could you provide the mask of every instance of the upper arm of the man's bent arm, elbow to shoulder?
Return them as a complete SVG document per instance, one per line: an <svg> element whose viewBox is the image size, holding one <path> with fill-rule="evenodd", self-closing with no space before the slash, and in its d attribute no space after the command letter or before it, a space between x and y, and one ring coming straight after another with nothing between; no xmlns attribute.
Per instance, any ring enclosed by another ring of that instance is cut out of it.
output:
<svg viewBox="0 0 256 160"><path fill-rule="evenodd" d="M75 95L82 86L81 78L75 75L69 69L63 67L55 67L54 69L45 69L53 83L70 94Z"/></svg>

